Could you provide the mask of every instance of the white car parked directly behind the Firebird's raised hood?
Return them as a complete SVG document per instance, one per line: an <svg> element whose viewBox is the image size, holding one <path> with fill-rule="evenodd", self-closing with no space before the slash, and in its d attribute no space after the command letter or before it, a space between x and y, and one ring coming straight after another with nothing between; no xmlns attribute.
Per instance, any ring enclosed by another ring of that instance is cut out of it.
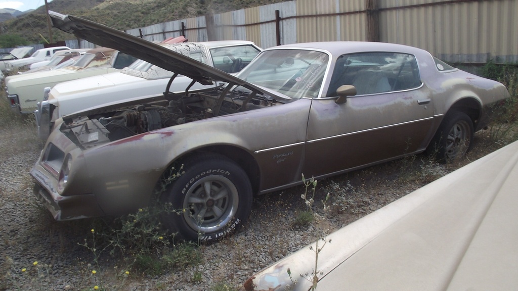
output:
<svg viewBox="0 0 518 291"><path fill-rule="evenodd" d="M231 74L241 70L262 50L253 42L244 40L163 46ZM139 60L118 72L57 84L50 93L47 90L48 100L45 97L46 100L38 104L35 111L38 135L47 139L53 122L64 115L126 98L161 94L172 75L170 71ZM192 79L179 76L170 90L184 90L191 82ZM203 87L195 83L191 89Z"/></svg>

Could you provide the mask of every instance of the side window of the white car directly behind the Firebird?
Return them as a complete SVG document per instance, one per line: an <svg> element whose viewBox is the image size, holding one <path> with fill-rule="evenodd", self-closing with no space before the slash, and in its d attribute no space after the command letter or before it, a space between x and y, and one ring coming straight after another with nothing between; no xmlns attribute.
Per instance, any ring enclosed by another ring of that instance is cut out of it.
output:
<svg viewBox="0 0 518 291"><path fill-rule="evenodd" d="M258 53L259 50L250 45L210 49L214 67L227 73L242 70Z"/></svg>

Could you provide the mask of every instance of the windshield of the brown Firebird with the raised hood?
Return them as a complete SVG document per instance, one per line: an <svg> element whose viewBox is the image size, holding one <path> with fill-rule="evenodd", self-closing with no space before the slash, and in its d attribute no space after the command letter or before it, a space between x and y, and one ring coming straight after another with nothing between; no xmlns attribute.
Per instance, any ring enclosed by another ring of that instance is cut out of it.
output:
<svg viewBox="0 0 518 291"><path fill-rule="evenodd" d="M270 50L244 68L237 77L293 99L318 97L329 56L312 50Z"/></svg>

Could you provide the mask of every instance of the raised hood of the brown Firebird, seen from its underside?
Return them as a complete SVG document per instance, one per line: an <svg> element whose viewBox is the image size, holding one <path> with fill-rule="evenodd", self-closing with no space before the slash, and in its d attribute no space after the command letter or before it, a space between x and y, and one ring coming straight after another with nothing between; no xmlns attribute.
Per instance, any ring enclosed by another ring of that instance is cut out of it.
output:
<svg viewBox="0 0 518 291"><path fill-rule="evenodd" d="M119 50L166 70L187 76L204 85L224 81L257 90L254 85L200 63L188 56L173 52L156 43L138 38L114 28L71 15L49 11L54 27L88 40L96 45Z"/></svg>

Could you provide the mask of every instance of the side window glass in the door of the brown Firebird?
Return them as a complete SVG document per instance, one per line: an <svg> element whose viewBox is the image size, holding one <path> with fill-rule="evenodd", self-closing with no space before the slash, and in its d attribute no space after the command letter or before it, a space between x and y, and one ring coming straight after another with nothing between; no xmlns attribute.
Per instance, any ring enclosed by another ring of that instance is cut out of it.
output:
<svg viewBox="0 0 518 291"><path fill-rule="evenodd" d="M341 85L353 85L356 95L366 95L416 88L421 81L413 55L368 52L338 57L327 96L336 96Z"/></svg>

